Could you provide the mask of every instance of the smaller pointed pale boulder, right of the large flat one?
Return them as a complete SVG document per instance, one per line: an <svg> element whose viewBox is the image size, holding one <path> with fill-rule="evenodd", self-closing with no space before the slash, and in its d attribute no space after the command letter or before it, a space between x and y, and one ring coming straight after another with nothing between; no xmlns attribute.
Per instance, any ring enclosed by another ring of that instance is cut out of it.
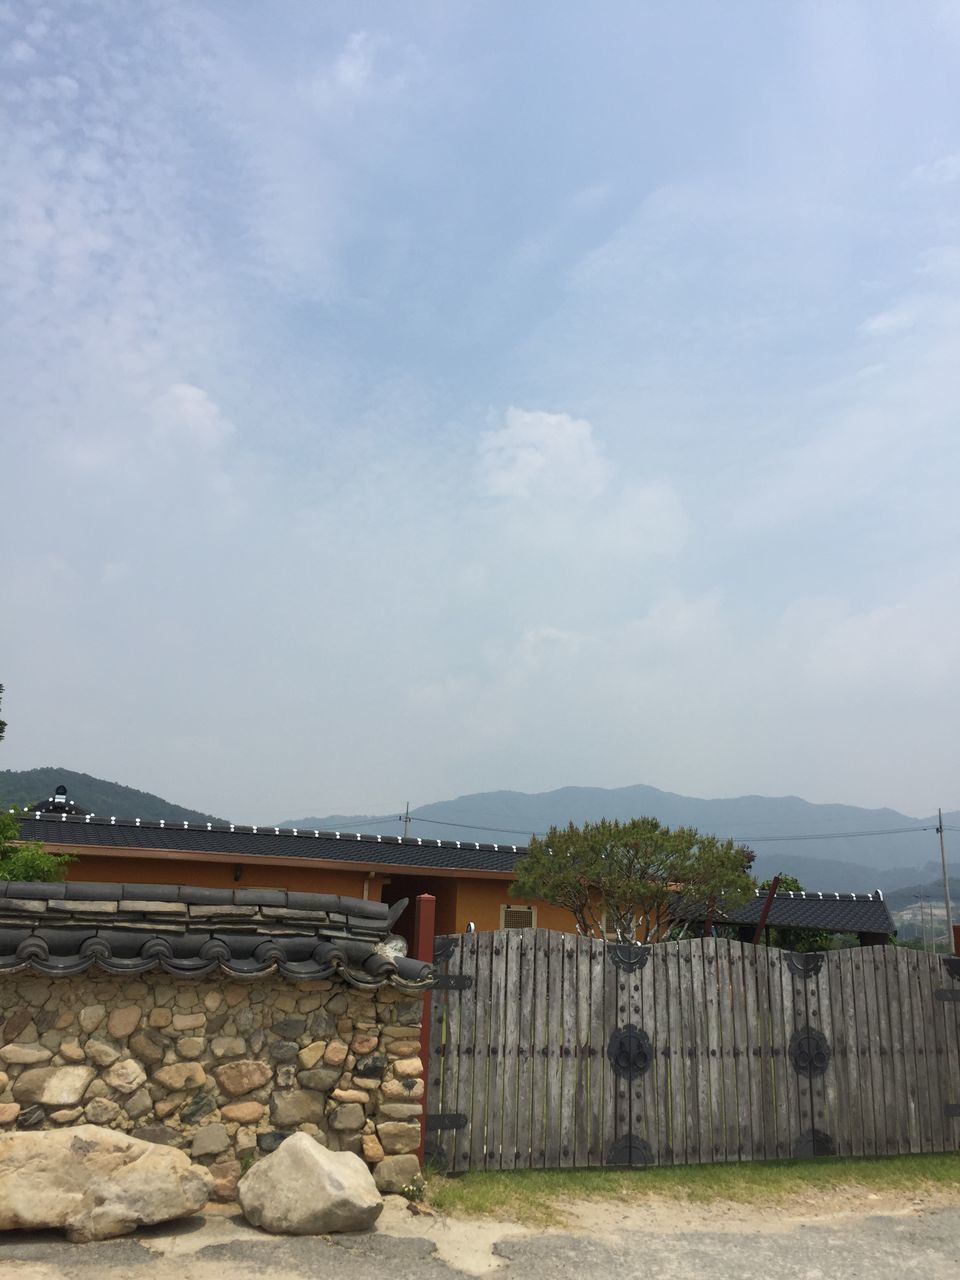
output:
<svg viewBox="0 0 960 1280"><path fill-rule="evenodd" d="M257 1161L238 1193L248 1222L282 1235L369 1231L383 1210L360 1156L328 1151L305 1133Z"/></svg>

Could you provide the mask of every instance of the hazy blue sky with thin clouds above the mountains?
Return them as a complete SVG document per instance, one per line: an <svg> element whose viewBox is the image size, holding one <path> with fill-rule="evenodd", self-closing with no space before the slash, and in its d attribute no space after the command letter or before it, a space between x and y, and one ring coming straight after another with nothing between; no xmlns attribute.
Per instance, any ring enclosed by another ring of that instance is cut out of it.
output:
<svg viewBox="0 0 960 1280"><path fill-rule="evenodd" d="M0 0L0 768L960 808L960 3Z"/></svg>

